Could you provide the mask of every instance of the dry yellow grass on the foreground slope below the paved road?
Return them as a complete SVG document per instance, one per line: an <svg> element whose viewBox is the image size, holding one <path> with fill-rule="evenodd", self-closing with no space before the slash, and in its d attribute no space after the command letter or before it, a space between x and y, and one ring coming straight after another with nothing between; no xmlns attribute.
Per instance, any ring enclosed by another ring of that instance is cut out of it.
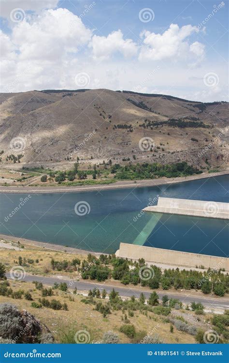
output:
<svg viewBox="0 0 229 363"><path fill-rule="evenodd" d="M42 297L41 291L35 289L35 285L28 282L14 281L10 282L13 290L23 289L29 290L34 301L38 302L38 299ZM118 333L121 343L131 343L131 340L123 333L119 332L119 328L122 326L122 317L124 314L121 311L113 311L112 314L103 318L102 315L94 310L94 305L85 304L81 302L82 295L74 295L72 292L62 292L60 290L54 290L55 295L53 297L46 297L51 300L53 298L59 300L61 303L66 302L69 311L64 310L52 310L50 308L43 307L42 309L36 309L31 307L31 302L22 299L12 299L11 297L0 296L0 303L11 302L19 307L19 309L26 309L30 313L39 318L42 323L46 324L51 332L55 335L55 338L59 339L61 331L68 331L69 329L88 330L92 336L92 340L100 340L103 333L109 330ZM56 295L57 294L57 295ZM74 301L70 301L69 298L73 298ZM96 299L100 300L101 299ZM128 317L129 318L129 317ZM136 331L145 331L146 333L157 333L166 343L195 343L195 339L192 335L179 332L174 328L174 332L170 333L170 323L164 322L164 317L158 316L153 313L148 313L148 317L134 312L134 317L129 318L130 323L136 328Z"/></svg>

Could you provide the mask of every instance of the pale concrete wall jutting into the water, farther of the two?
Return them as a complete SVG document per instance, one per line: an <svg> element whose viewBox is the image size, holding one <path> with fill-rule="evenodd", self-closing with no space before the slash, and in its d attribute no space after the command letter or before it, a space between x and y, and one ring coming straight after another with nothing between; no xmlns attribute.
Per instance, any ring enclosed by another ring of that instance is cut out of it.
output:
<svg viewBox="0 0 229 363"><path fill-rule="evenodd" d="M229 219L229 203L159 197L156 206L146 207L143 212Z"/></svg>

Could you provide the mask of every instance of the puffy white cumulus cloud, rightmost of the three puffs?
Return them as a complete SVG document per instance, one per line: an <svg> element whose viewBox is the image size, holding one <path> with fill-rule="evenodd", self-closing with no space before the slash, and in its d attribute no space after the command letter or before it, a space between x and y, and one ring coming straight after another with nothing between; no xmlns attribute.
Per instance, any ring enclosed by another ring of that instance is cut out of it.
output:
<svg viewBox="0 0 229 363"><path fill-rule="evenodd" d="M163 34L143 31L143 46L139 54L140 61L161 61L177 57L184 59L188 55L203 57L204 46L195 42L188 43L188 37L193 33L199 32L196 26L185 25L181 28L177 24L171 24L169 29Z"/></svg>

